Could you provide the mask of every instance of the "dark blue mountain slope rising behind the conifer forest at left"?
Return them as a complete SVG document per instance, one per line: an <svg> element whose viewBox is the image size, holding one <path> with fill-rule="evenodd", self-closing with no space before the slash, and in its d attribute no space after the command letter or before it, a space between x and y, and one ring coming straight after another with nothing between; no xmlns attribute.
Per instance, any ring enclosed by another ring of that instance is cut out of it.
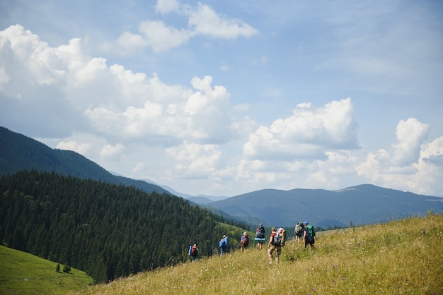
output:
<svg viewBox="0 0 443 295"><path fill-rule="evenodd" d="M134 186L151 193L167 192L146 181L113 175L90 159L70 150L52 149L33 138L0 127L0 176L22 170L56 172L79 179L92 179L112 184Z"/></svg>

